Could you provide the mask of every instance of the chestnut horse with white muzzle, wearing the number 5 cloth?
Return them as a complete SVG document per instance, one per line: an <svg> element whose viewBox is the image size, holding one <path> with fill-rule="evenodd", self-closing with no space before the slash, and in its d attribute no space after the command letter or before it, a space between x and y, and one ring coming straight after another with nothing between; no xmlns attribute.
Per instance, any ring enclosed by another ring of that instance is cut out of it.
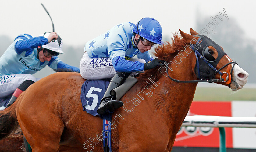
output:
<svg viewBox="0 0 256 152"><path fill-rule="evenodd" d="M180 31L181 36L175 34L172 44L166 42L155 48L154 55L169 63L168 74L172 78L199 80L194 70L197 59L190 47L190 42L197 44L199 37L192 29L190 33ZM207 53L217 59L219 51L212 46L213 43L205 45L209 48ZM223 52L223 48L219 48ZM230 62L227 55L219 58L215 68L229 73L226 79L230 83L217 83L230 85L236 91L246 84L248 73ZM123 107L112 114L112 151L172 150L197 83L174 82L163 72L163 68L157 67L140 74L138 82L121 98ZM214 77L220 78L219 73L215 74ZM80 88L84 81L79 73L58 72L32 84L12 106L0 111L0 138L20 125L33 152L103 151L104 137L100 134L102 119L82 109Z"/></svg>

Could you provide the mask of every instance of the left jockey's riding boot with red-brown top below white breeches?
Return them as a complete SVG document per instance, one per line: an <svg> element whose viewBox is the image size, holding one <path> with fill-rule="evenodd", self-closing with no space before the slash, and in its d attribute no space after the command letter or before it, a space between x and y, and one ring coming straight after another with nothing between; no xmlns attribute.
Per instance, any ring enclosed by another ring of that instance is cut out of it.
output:
<svg viewBox="0 0 256 152"><path fill-rule="evenodd" d="M26 80L22 84L20 84L20 86L12 94L12 97L11 97L10 101L8 102L7 106L5 107L5 109L10 107L14 103L14 101L17 99L17 97L19 97L19 95L33 83L35 83L35 82L32 80Z"/></svg>

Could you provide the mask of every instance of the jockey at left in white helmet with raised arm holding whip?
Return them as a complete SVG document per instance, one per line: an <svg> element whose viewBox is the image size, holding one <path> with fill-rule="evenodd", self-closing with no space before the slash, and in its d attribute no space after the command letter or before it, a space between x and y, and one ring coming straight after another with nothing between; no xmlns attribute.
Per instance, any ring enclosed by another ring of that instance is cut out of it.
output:
<svg viewBox="0 0 256 152"><path fill-rule="evenodd" d="M65 68L79 72L79 68L63 63L57 57L60 53L64 53L62 39L56 32L34 38L29 34L18 35L0 58L0 98L4 101L0 109L9 107L21 92L36 81L31 74L46 65L52 69Z"/></svg>

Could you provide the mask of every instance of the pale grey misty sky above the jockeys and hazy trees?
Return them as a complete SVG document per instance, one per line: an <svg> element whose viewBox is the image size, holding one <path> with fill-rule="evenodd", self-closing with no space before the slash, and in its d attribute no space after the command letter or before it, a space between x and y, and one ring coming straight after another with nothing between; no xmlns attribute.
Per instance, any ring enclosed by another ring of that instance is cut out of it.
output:
<svg viewBox="0 0 256 152"><path fill-rule="evenodd" d="M170 38L172 33L181 29L189 33L195 28L198 16L214 18L219 13L235 18L248 38L256 40L254 29L256 1L170 1L170 0L107 0L107 1L1 1L0 35L7 35L12 40L21 33L38 36L52 31L52 23L41 6L44 4L52 17L55 31L65 44L79 46L108 31L123 22L137 23L141 18L151 17L162 26L163 37ZM198 16L197 16L198 15ZM219 15L225 24L225 16ZM200 19L200 18L199 18ZM212 21L214 22L214 21ZM210 31L205 23L204 27ZM218 26L217 24L215 24ZM200 32L200 31L197 31ZM211 31L210 31L211 32ZM235 32L235 31L234 31ZM211 32L212 34L212 32ZM1 42L0 42L1 45ZM83 51L83 50L81 50Z"/></svg>

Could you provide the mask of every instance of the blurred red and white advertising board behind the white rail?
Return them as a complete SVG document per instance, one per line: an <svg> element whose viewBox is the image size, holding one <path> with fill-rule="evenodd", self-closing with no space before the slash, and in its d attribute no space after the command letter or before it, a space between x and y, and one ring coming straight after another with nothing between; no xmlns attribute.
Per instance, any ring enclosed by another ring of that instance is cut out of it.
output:
<svg viewBox="0 0 256 152"><path fill-rule="evenodd" d="M187 115L256 117L255 101L193 101ZM256 149L256 128L225 128L227 148ZM219 147L219 128L181 127L174 146Z"/></svg>

